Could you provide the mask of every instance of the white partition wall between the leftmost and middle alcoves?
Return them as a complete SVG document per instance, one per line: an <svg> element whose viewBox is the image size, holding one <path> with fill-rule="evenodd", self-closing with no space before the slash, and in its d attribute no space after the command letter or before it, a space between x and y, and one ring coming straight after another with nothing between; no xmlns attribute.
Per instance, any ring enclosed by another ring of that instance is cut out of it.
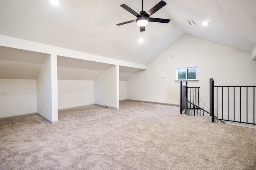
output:
<svg viewBox="0 0 256 170"><path fill-rule="evenodd" d="M58 123L57 55L46 56L37 77L37 113Z"/></svg>

